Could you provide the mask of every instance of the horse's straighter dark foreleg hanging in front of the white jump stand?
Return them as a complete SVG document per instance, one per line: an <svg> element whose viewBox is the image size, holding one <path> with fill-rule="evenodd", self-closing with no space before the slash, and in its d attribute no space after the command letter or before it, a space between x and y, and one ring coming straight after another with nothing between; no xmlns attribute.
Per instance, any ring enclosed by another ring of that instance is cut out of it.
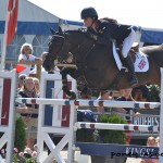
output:
<svg viewBox="0 0 163 163"><path fill-rule="evenodd" d="M76 99L75 92L71 91L68 88L67 77L68 70L66 67L62 68L60 72L62 75L62 90L68 96L70 99Z"/></svg>

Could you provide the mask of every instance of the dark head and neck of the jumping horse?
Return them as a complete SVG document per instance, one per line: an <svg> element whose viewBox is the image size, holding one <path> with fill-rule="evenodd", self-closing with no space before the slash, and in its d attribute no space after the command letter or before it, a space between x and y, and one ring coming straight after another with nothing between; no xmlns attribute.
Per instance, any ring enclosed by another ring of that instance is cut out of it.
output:
<svg viewBox="0 0 163 163"><path fill-rule="evenodd" d="M54 67L53 61L55 59L66 60L70 57L70 52L74 53L82 53L80 49L85 49L88 47L92 40L87 37L85 32L80 30L67 30L65 33L53 33L50 42L49 42L49 54L43 62L43 67L46 71L50 71Z"/></svg>

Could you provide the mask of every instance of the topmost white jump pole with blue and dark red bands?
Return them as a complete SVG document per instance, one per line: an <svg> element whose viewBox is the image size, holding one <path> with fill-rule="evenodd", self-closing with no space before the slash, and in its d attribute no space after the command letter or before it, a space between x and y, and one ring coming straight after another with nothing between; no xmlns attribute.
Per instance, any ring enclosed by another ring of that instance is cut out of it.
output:
<svg viewBox="0 0 163 163"><path fill-rule="evenodd" d="M112 100L65 100L65 99L42 99L42 98L17 98L18 103L28 104L53 104L53 105L78 105L78 106L112 106L112 108L139 108L155 109L159 102L135 102L135 101L112 101Z"/></svg>

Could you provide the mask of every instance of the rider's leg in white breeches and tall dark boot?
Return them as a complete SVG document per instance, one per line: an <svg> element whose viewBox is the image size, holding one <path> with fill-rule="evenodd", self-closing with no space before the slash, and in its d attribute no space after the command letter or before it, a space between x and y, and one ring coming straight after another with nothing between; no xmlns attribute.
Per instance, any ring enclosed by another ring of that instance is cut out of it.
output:
<svg viewBox="0 0 163 163"><path fill-rule="evenodd" d="M131 48L131 46L135 41L135 37L136 37L136 33L134 32L134 29L131 29L128 37L125 38L125 40L123 42L123 49L122 49L122 54L124 57L126 66L128 67L129 72L131 73L131 78L130 78L131 86L135 86L138 84L138 79L135 74L133 60L131 60L130 55L128 55L129 49Z"/></svg>

